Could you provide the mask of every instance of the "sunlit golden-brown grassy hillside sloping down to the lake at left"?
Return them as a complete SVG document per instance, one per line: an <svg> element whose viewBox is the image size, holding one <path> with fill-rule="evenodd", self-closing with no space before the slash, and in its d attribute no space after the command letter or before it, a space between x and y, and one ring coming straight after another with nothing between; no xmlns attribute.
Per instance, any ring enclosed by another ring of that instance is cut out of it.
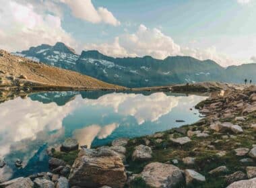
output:
<svg viewBox="0 0 256 188"><path fill-rule="evenodd" d="M34 85L61 87L121 88L74 71L34 62L20 56L13 56L4 50L0 50L0 81L2 87L26 81Z"/></svg>

